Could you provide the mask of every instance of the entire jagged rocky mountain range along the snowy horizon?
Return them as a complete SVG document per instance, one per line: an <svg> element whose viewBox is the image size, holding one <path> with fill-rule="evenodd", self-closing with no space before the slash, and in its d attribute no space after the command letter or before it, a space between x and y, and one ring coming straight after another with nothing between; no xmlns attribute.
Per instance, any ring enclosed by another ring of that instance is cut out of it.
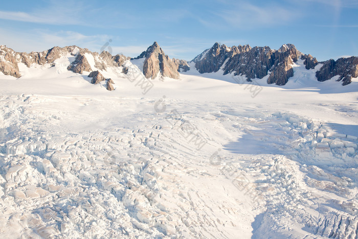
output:
<svg viewBox="0 0 358 239"><path fill-rule="evenodd" d="M295 63L303 61L307 70L314 70L318 81L334 79L343 85L358 77L358 57L329 59L318 62L310 54L301 53L292 44L285 44L278 50L270 47L233 46L227 47L217 42L193 60L170 59L154 42L139 56L130 58L121 54L111 55L107 51L100 54L77 46L54 47L43 52L15 52L0 46L0 72L19 78L23 75L19 66L27 68L39 65L45 68L56 66L58 59L68 58L66 70L87 75L94 84L106 82L107 90L114 90L111 79L105 78L108 69L128 75L136 71L145 78L180 78L180 72L194 67L200 74L220 72L222 75L244 76L247 81L267 78L268 84L285 85L294 76Z"/></svg>

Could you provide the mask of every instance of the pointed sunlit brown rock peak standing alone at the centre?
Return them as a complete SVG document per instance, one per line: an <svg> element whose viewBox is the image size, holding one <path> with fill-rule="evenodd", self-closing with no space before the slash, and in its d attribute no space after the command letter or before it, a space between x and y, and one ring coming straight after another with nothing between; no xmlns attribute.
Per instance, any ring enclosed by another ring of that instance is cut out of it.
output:
<svg viewBox="0 0 358 239"><path fill-rule="evenodd" d="M165 55L158 43L154 42L145 52L134 59L144 57L143 74L146 78L154 79L160 73L164 77L179 79L178 67Z"/></svg>

